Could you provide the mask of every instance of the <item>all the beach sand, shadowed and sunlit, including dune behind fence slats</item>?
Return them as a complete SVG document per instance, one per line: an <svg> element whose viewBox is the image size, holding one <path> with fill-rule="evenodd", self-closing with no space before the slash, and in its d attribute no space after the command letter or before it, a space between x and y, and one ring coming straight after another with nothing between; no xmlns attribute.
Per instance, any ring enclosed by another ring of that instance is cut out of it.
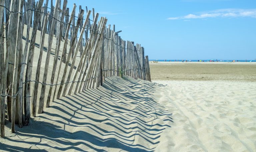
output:
<svg viewBox="0 0 256 152"><path fill-rule="evenodd" d="M37 33L32 80L39 41ZM50 83L55 41L46 83ZM47 41L44 46L47 49ZM0 150L256 151L254 63L158 62L150 68L153 82L107 78L98 89L54 100L44 113L31 117L29 126L16 125L16 133L11 133L6 119ZM38 90L39 101L41 85Z"/></svg>

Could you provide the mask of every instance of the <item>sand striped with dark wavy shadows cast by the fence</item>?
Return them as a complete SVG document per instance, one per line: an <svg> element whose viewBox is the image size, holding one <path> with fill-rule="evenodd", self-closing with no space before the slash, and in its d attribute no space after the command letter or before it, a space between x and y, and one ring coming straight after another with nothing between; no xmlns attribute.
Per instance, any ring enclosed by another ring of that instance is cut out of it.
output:
<svg viewBox="0 0 256 152"><path fill-rule="evenodd" d="M55 100L28 127L7 135L0 149L154 151L173 122L172 113L152 96L161 86L128 76L109 77L98 89Z"/></svg>

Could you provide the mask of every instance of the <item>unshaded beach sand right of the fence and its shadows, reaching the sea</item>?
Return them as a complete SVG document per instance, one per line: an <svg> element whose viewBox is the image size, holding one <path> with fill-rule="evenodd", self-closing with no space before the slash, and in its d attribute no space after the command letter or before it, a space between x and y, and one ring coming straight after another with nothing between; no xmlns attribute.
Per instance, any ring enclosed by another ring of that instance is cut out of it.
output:
<svg viewBox="0 0 256 152"><path fill-rule="evenodd" d="M150 63L173 123L156 151L256 151L255 62Z"/></svg>

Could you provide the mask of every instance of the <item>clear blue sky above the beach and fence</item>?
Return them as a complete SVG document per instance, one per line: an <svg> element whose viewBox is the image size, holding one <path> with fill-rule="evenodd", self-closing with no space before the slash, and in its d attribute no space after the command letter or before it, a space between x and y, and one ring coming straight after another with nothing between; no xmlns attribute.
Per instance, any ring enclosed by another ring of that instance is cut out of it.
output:
<svg viewBox="0 0 256 152"><path fill-rule="evenodd" d="M69 0L70 9L73 3L76 15L82 5L107 17L149 59L256 58L256 0Z"/></svg>

